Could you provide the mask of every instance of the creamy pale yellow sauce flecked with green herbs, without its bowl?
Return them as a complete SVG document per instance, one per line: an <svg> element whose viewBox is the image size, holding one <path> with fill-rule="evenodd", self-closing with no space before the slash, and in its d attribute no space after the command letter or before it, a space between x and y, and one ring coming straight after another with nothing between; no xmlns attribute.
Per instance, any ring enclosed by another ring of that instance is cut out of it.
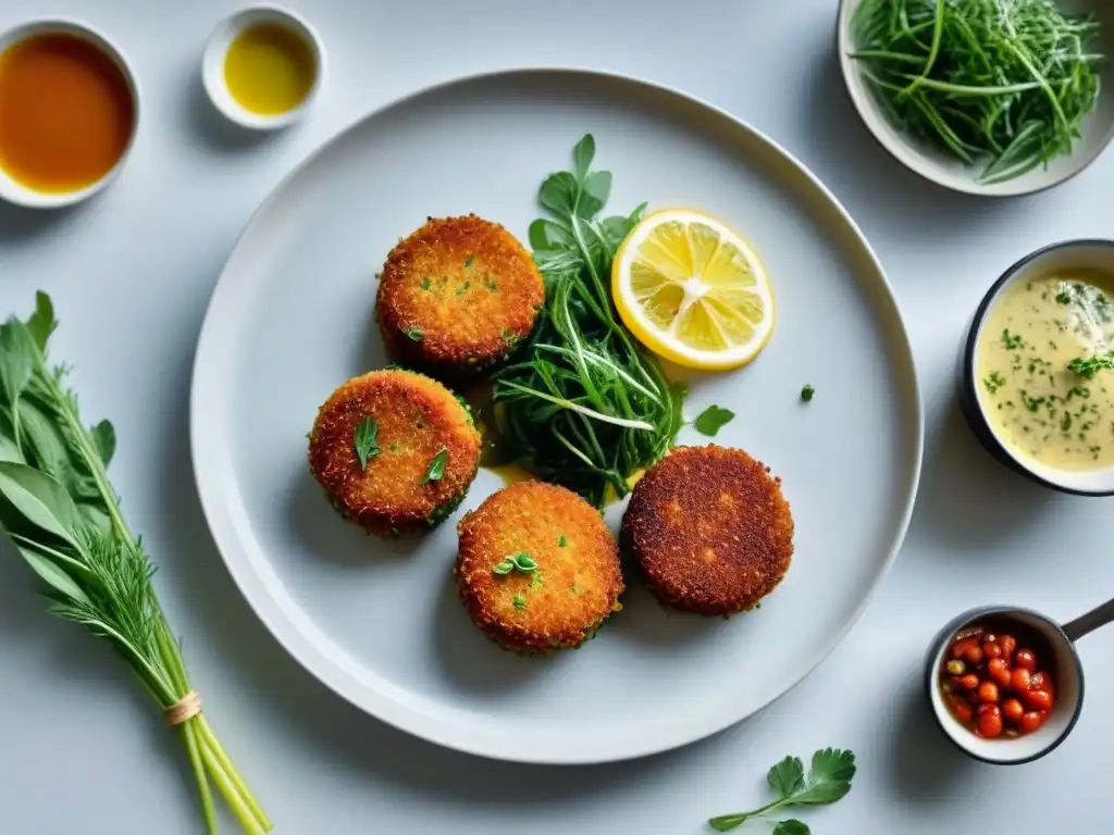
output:
<svg viewBox="0 0 1114 835"><path fill-rule="evenodd" d="M1019 282L979 336L979 402L1015 452L1059 470L1114 465L1114 370L1086 379L1073 360L1114 348L1114 276L1071 273Z"/></svg>

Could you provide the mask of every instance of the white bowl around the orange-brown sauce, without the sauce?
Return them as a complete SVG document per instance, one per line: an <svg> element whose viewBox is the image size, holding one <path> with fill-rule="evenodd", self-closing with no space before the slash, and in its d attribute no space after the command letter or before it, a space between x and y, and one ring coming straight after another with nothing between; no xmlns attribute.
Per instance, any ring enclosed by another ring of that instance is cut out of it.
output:
<svg viewBox="0 0 1114 835"><path fill-rule="evenodd" d="M0 168L0 199L27 208L62 208L65 206L72 206L97 194L124 167L128 156L131 154L131 146L135 145L136 134L139 132L139 86L136 84L135 73L124 58L124 53L96 29L86 23L79 23L76 20L35 20L20 23L0 35L0 53L3 53L16 43L37 35L69 35L92 43L119 67L120 72L124 73L124 79L127 81L128 92L131 95L131 135L128 137L128 144L125 146L124 153L120 154L120 158L116 160L116 165L96 183L91 183L85 188L74 191L39 191L25 186L22 183L13 179L3 168Z"/></svg>

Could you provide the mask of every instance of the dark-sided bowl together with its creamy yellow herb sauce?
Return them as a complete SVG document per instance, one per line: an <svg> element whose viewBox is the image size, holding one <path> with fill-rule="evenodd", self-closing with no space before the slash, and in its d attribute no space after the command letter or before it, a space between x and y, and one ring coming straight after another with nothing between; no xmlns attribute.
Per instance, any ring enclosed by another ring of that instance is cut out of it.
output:
<svg viewBox="0 0 1114 835"><path fill-rule="evenodd" d="M1014 264L968 333L968 423L1045 487L1114 495L1114 240L1068 240Z"/></svg>

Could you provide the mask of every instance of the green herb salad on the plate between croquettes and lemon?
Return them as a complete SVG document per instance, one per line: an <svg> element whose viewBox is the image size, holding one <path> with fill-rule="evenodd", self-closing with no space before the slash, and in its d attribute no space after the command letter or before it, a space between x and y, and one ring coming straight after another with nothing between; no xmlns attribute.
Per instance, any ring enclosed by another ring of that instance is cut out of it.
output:
<svg viewBox="0 0 1114 835"><path fill-rule="evenodd" d="M538 198L551 216L530 225L530 246L546 307L520 358L495 375L492 401L519 460L602 507L673 444L683 392L612 304L612 261L645 204L600 218L612 175L590 170L594 156L587 135L573 149L573 170L541 184Z"/></svg>

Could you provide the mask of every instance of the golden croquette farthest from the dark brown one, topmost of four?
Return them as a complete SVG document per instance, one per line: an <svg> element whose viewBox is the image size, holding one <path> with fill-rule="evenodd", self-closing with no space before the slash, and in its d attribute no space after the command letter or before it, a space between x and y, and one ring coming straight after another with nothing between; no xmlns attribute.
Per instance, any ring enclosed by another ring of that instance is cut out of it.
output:
<svg viewBox="0 0 1114 835"><path fill-rule="evenodd" d="M430 218L391 249L377 318L401 362L458 376L506 358L545 299L541 273L502 226L476 215Z"/></svg>

